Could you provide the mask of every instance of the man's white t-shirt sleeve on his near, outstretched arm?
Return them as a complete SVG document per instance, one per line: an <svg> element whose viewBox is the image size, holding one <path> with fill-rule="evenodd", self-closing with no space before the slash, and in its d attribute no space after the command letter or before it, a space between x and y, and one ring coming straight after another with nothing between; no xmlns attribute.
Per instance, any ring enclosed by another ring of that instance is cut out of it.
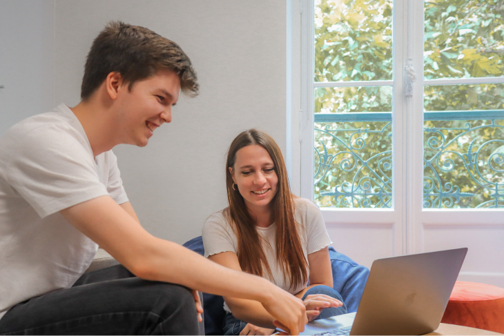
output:
<svg viewBox="0 0 504 336"><path fill-rule="evenodd" d="M7 165L10 186L42 218L108 195L99 181L93 155L78 135L61 127L40 127L26 133Z"/></svg>

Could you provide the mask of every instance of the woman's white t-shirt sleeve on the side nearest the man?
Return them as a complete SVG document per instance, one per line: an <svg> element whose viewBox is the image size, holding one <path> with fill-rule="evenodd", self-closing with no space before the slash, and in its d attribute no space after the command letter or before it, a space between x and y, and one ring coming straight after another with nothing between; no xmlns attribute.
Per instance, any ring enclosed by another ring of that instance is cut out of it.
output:
<svg viewBox="0 0 504 336"><path fill-rule="evenodd" d="M222 213L214 213L206 219L202 237L206 258L217 253L238 251L236 235Z"/></svg>

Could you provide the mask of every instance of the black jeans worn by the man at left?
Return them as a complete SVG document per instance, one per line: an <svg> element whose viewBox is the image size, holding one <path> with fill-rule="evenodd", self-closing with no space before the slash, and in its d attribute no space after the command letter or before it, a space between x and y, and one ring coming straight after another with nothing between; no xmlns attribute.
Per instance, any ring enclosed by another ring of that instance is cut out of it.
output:
<svg viewBox="0 0 504 336"><path fill-rule="evenodd" d="M197 336L198 323L191 290L139 279L116 265L10 308L0 336L21 335Z"/></svg>

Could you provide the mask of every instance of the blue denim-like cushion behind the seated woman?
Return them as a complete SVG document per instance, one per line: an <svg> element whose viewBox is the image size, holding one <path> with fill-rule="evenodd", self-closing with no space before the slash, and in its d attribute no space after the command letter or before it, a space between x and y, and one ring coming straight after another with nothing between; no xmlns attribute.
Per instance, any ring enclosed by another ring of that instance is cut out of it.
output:
<svg viewBox="0 0 504 336"><path fill-rule="evenodd" d="M196 237L187 241L184 246L200 255L204 255L202 237ZM369 275L369 270L356 264L355 261L336 252L329 247L331 266L333 269L333 288L340 293L349 313L357 310L360 297ZM203 309L206 336L222 336L222 322L226 312L222 306L224 299L221 296L203 293Z"/></svg>

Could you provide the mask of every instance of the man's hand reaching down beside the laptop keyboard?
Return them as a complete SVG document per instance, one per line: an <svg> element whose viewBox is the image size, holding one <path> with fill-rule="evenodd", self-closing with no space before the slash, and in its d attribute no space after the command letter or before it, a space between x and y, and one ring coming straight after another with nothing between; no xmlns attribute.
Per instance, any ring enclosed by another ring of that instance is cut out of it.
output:
<svg viewBox="0 0 504 336"><path fill-rule="evenodd" d="M275 319L273 325L287 331L291 336L298 336L304 331L304 324L308 323L306 308L298 297L281 288L275 287L267 302L262 302L264 309Z"/></svg>

